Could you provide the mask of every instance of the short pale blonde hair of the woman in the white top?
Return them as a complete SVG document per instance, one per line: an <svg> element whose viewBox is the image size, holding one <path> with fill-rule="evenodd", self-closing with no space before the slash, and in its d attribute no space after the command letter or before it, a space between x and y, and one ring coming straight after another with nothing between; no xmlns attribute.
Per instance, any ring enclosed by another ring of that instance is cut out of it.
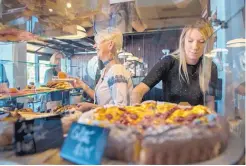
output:
<svg viewBox="0 0 246 166"><path fill-rule="evenodd" d="M98 32L95 36L95 42L101 43L105 40L112 40L115 44L116 53L120 51L123 46L123 35L121 31L117 28L107 28Z"/></svg>

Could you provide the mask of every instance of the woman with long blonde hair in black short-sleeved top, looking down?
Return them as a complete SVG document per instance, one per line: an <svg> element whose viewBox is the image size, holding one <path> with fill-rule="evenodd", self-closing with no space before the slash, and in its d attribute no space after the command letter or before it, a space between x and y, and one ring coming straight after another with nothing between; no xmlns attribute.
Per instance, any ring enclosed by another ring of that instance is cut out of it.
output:
<svg viewBox="0 0 246 166"><path fill-rule="evenodd" d="M140 103L143 96L162 81L164 101L207 104L214 109L217 67L204 56L212 50L213 43L213 28L205 19L186 26L178 50L159 61L133 89L132 104Z"/></svg>

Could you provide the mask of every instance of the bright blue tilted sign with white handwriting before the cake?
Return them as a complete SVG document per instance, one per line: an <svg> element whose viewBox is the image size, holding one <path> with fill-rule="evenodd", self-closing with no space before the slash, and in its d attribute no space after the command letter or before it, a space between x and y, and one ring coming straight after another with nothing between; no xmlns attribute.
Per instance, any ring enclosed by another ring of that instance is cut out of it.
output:
<svg viewBox="0 0 246 166"><path fill-rule="evenodd" d="M61 157L76 164L98 165L106 147L109 129L73 123L61 149Z"/></svg>

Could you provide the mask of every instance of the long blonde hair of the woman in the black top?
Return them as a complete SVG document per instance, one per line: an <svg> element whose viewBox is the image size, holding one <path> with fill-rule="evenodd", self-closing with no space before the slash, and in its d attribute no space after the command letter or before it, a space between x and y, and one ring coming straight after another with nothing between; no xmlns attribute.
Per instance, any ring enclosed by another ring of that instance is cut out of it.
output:
<svg viewBox="0 0 246 166"><path fill-rule="evenodd" d="M190 29L198 29L206 40L202 65L199 66L199 84L202 92L205 93L208 90L209 81L211 78L212 59L204 55L213 49L214 43L213 27L210 25L210 23L205 19L199 19L194 24L186 26L183 29L179 39L179 49L173 52L172 55L179 59L179 78L182 78L189 84L189 75L185 59L185 36ZM184 76L182 75L182 71Z"/></svg>

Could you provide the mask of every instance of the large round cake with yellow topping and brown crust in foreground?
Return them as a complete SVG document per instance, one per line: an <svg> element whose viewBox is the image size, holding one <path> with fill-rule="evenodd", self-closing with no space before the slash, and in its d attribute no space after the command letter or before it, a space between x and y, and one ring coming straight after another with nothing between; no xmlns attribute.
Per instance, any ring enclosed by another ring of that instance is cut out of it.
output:
<svg viewBox="0 0 246 166"><path fill-rule="evenodd" d="M227 146L227 121L205 106L144 102L97 108L87 120L111 129L105 157L134 164L191 164Z"/></svg>

